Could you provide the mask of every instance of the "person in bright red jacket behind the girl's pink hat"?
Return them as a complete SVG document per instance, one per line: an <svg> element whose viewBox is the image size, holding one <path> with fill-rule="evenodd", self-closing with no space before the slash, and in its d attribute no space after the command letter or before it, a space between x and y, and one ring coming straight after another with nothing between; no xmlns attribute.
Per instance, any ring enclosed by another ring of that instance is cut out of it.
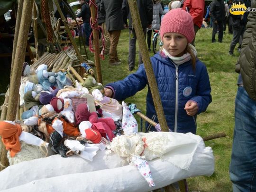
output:
<svg viewBox="0 0 256 192"><path fill-rule="evenodd" d="M190 13L193 18L195 35L201 28L204 14L204 0L185 0L183 3L183 9ZM193 46L195 38L191 42Z"/></svg>

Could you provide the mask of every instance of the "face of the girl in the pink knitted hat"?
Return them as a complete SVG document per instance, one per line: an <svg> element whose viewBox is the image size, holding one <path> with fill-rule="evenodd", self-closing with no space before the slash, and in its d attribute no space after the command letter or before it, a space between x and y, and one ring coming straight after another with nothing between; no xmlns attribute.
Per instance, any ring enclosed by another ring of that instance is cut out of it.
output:
<svg viewBox="0 0 256 192"><path fill-rule="evenodd" d="M164 48L171 56L181 57L187 47L187 38L180 33L165 33L163 37Z"/></svg>

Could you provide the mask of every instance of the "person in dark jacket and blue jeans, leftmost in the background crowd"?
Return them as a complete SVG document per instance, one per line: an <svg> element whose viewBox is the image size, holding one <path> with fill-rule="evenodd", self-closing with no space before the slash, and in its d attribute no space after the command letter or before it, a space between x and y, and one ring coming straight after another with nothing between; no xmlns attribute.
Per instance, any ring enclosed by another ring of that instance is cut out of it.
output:
<svg viewBox="0 0 256 192"><path fill-rule="evenodd" d="M83 32L85 34L85 44L89 46L89 38L91 35L91 25L90 25L91 10L89 7L89 0L79 0L79 2L82 8L81 8L81 12L77 15L77 17L82 17Z"/></svg>

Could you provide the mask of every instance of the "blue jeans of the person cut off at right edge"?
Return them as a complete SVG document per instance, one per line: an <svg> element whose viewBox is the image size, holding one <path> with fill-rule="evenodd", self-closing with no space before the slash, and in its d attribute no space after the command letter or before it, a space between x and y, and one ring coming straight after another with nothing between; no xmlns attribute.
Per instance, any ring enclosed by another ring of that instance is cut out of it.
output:
<svg viewBox="0 0 256 192"><path fill-rule="evenodd" d="M256 101L238 87L229 166L233 192L256 192Z"/></svg>

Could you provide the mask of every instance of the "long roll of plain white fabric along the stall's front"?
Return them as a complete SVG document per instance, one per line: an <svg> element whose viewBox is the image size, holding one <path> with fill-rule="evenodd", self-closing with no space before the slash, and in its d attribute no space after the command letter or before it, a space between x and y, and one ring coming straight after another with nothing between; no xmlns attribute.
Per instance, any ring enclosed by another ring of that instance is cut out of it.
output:
<svg viewBox="0 0 256 192"><path fill-rule="evenodd" d="M189 159L191 156L179 154L178 148L175 148L177 150L169 150L162 159L156 158L148 161L155 182L153 188L148 186L135 166L122 167L123 163L128 165L127 161L113 152L106 160L104 158L106 151L99 150L92 162L78 156L62 158L60 155L54 155L9 166L0 172L0 190L9 189L6 192L146 192L184 178L198 175L210 176L214 172L214 157L211 148L205 147L200 136L185 135L197 142L192 159ZM173 159L185 157L189 161L192 160L189 167L184 166L187 169L174 165Z"/></svg>

